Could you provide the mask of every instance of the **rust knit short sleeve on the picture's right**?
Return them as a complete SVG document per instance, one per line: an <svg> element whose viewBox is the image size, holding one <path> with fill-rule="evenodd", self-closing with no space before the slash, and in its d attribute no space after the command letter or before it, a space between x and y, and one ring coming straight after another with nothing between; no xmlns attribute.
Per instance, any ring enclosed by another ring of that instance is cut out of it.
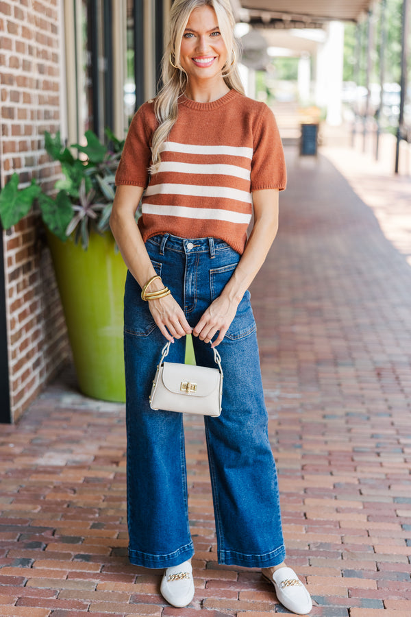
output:
<svg viewBox="0 0 411 617"><path fill-rule="evenodd" d="M277 123L271 109L262 104L260 123L253 134L253 160L251 162L251 191L278 189L287 184L284 150Z"/></svg>

